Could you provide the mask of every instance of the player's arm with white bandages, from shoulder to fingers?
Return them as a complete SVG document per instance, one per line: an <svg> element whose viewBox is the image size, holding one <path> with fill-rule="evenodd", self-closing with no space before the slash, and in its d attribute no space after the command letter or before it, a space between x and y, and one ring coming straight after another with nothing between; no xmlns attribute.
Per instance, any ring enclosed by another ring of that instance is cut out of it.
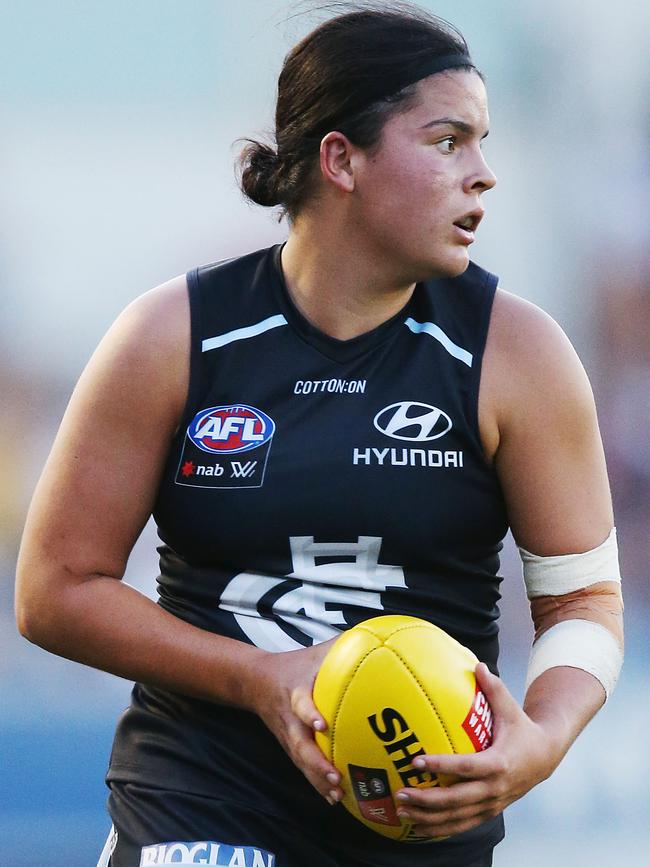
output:
<svg viewBox="0 0 650 867"><path fill-rule="evenodd" d="M459 782L398 794L416 832L440 837L496 816L550 776L605 701L611 678L600 673L607 668L600 657L615 670L618 659L607 654L622 653L620 583L615 570L607 571L613 514L591 387L560 327L502 291L483 362L479 415L513 535L533 561L528 590L536 642L545 636L543 644L552 646L542 656L534 645L537 670L529 672L523 708L479 665L477 680L494 715L492 745L475 755L421 757L423 767L456 774ZM582 668L582 634L572 631L584 629L585 621L595 631L587 653L595 665Z"/></svg>

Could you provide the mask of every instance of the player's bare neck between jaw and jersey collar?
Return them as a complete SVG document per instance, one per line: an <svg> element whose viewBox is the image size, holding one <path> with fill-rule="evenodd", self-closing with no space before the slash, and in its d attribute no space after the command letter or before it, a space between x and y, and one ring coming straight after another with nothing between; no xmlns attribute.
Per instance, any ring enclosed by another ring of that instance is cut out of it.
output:
<svg viewBox="0 0 650 867"><path fill-rule="evenodd" d="M350 340L398 313L415 284L391 273L384 257L336 222L296 221L282 250L282 270L303 316L330 337Z"/></svg>

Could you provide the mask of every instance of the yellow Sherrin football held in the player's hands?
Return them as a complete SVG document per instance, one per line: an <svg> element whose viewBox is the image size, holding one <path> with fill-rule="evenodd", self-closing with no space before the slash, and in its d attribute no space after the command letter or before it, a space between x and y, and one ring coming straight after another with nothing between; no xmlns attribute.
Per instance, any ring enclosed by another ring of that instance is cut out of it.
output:
<svg viewBox="0 0 650 867"><path fill-rule="evenodd" d="M343 776L343 804L368 828L424 842L397 815L401 788L449 785L413 767L418 755L472 753L491 742L478 659L417 617L375 617L344 632L323 660L314 701L327 720L316 741Z"/></svg>

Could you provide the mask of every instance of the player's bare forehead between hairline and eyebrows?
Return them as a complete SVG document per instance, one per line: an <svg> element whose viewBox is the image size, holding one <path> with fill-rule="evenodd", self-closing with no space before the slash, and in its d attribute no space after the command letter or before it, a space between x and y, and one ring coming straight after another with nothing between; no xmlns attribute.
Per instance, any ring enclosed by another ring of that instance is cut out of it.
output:
<svg viewBox="0 0 650 867"><path fill-rule="evenodd" d="M403 115L409 126L454 117L471 124L481 135L489 127L487 92L476 72L450 70L430 75L418 82L417 96Z"/></svg>

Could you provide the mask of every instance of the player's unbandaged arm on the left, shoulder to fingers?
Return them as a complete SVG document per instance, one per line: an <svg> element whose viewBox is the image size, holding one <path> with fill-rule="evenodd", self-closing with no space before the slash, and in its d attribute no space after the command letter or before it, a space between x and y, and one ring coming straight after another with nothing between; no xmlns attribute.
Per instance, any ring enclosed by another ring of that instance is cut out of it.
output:
<svg viewBox="0 0 650 867"><path fill-rule="evenodd" d="M186 400L184 277L134 301L83 372L37 485L16 582L21 633L129 680L259 714L327 796L311 681L325 648L274 654L185 623L121 581ZM336 787L334 787L336 788Z"/></svg>

